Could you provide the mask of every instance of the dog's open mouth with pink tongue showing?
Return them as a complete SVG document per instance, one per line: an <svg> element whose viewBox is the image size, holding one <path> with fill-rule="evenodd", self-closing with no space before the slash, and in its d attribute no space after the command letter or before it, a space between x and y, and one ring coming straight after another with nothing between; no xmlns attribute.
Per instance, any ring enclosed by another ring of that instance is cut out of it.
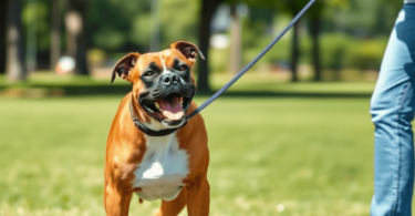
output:
<svg viewBox="0 0 415 216"><path fill-rule="evenodd" d="M144 107L149 113L162 113L165 120L178 121L184 115L190 104L191 97L184 97L178 93L172 93L154 103L145 103Z"/></svg>

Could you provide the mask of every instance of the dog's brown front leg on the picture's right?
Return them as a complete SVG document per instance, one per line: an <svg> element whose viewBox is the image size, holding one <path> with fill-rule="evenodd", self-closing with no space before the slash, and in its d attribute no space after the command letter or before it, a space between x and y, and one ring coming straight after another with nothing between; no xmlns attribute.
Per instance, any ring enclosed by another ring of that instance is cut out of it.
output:
<svg viewBox="0 0 415 216"><path fill-rule="evenodd" d="M204 176L188 188L187 213L189 216L208 216L210 203L210 186Z"/></svg>

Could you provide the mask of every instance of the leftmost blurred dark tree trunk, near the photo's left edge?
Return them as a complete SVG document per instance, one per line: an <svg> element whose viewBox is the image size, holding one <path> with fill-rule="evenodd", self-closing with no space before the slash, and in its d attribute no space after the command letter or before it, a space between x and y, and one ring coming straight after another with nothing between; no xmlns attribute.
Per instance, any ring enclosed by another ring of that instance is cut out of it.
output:
<svg viewBox="0 0 415 216"><path fill-rule="evenodd" d="M9 0L6 73L9 81L25 80L21 0Z"/></svg>

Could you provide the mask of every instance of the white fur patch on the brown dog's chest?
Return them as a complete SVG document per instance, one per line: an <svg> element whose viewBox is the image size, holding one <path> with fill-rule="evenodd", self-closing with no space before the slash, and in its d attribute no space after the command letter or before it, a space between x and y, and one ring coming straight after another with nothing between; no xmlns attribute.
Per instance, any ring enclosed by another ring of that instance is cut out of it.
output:
<svg viewBox="0 0 415 216"><path fill-rule="evenodd" d="M176 133L147 136L147 150L134 173L133 188L145 200L172 200L180 193L188 173L188 155L179 150Z"/></svg>

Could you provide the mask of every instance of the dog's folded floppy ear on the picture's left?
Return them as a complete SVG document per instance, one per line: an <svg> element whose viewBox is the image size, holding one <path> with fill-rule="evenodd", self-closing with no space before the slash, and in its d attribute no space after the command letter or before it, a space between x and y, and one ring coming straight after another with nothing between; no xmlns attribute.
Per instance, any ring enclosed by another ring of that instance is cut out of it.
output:
<svg viewBox="0 0 415 216"><path fill-rule="evenodd" d="M123 56L114 66L113 74L111 78L111 83L115 80L115 73L118 74L120 78L123 78L124 80L128 80L128 75L135 64L138 61L139 53L138 52L131 52L127 55ZM131 82L131 81L129 81Z"/></svg>

